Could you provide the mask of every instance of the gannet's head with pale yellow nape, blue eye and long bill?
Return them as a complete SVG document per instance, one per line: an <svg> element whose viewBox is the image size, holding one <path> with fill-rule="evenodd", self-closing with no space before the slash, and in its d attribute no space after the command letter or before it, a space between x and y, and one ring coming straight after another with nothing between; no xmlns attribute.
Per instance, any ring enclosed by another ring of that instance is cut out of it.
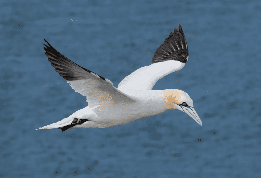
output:
<svg viewBox="0 0 261 178"><path fill-rule="evenodd" d="M163 90L163 103L166 110L181 110L202 127L202 122L194 109L193 101L186 92L177 89Z"/></svg>

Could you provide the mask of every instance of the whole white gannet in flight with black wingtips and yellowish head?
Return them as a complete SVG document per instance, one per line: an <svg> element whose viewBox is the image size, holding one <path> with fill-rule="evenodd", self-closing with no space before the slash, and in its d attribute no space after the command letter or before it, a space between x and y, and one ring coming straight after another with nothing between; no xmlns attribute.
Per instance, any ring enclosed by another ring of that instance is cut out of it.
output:
<svg viewBox="0 0 261 178"><path fill-rule="evenodd" d="M188 60L188 45L180 24L179 30L175 28L157 48L151 65L125 77L118 88L110 80L69 60L44 41L48 44L44 44L44 54L55 71L75 92L86 96L88 105L67 118L39 129L109 128L174 109L187 113L202 126L193 101L186 92L177 89L152 90L159 79L182 69Z"/></svg>

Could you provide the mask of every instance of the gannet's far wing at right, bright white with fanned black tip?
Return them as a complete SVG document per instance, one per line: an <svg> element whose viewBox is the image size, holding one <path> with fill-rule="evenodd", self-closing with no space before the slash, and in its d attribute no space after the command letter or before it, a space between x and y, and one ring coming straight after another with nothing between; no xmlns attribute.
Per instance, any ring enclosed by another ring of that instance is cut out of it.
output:
<svg viewBox="0 0 261 178"><path fill-rule="evenodd" d="M132 89L152 90L156 82L162 77L178 71L188 60L188 45L179 24L179 30L169 34L164 43L157 48L150 66L144 66L125 77L118 89L127 91Z"/></svg>

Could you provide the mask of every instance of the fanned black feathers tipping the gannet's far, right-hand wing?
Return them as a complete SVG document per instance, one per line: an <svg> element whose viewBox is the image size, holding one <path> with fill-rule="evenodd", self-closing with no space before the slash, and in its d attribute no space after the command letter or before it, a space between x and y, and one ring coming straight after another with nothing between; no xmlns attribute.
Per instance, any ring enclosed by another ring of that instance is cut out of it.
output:
<svg viewBox="0 0 261 178"><path fill-rule="evenodd" d="M151 63L163 62L167 60L187 62L188 45L183 33L182 27L179 24L179 30L174 29L174 32L169 34L169 37L164 40L164 43L157 48Z"/></svg>

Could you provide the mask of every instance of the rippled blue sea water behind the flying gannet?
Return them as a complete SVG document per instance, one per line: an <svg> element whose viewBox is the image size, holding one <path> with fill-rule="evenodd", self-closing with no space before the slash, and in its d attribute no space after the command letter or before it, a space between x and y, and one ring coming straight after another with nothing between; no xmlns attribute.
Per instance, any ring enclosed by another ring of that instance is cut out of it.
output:
<svg viewBox="0 0 261 178"><path fill-rule="evenodd" d="M0 1L0 177L261 177L260 1ZM154 90L179 110L106 129L36 130L87 105L54 71L45 38L78 65L120 81L151 64L179 23L182 70Z"/></svg>

